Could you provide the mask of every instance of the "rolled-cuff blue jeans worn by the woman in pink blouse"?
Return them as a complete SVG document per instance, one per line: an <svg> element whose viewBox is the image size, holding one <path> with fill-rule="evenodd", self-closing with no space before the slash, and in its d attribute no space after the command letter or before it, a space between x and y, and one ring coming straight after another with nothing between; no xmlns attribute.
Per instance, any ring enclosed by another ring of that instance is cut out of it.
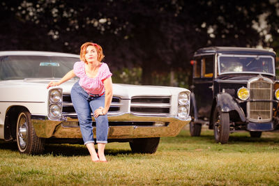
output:
<svg viewBox="0 0 279 186"><path fill-rule="evenodd" d="M93 126L91 111L94 112L99 107L105 105L105 94L100 97L92 97L80 86L79 82L75 83L70 91L77 118L80 122L80 131L84 145L94 143ZM100 115L95 118L96 121L96 142L98 144L107 144L107 132L109 122L106 115Z"/></svg>

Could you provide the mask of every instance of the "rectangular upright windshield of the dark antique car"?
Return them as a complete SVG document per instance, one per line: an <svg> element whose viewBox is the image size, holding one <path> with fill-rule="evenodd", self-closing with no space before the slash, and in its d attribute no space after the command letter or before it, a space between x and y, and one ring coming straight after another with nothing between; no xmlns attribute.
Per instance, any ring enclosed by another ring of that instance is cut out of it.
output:
<svg viewBox="0 0 279 186"><path fill-rule="evenodd" d="M252 73L275 75L273 56L218 56L219 75L232 73Z"/></svg>

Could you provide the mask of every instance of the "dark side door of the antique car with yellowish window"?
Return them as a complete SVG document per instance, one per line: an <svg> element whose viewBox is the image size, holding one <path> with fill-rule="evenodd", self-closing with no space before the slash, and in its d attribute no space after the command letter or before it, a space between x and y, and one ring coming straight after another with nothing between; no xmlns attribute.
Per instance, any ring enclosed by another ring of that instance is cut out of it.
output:
<svg viewBox="0 0 279 186"><path fill-rule="evenodd" d="M197 118L209 121L213 103L214 56L197 56L194 63L193 93L195 94Z"/></svg>

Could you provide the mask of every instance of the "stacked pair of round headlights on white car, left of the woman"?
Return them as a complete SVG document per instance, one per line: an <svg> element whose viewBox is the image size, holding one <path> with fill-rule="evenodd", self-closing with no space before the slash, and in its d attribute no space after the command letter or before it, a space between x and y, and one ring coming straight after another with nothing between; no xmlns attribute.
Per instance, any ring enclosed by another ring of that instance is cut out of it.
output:
<svg viewBox="0 0 279 186"><path fill-rule="evenodd" d="M62 118L62 89L53 88L48 93L48 117L52 120Z"/></svg>

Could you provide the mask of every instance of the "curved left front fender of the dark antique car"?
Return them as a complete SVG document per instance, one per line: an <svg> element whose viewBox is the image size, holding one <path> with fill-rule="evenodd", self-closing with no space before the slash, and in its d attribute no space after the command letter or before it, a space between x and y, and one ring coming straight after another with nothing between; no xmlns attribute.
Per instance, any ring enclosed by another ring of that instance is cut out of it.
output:
<svg viewBox="0 0 279 186"><path fill-rule="evenodd" d="M232 95L229 95L229 93L219 93L216 96L216 104L217 107L219 107L223 112L237 111L237 113L239 114L239 118L241 118L241 121L246 121L246 116L243 112L243 109L239 107L239 104L237 104L234 98L232 98Z"/></svg>

